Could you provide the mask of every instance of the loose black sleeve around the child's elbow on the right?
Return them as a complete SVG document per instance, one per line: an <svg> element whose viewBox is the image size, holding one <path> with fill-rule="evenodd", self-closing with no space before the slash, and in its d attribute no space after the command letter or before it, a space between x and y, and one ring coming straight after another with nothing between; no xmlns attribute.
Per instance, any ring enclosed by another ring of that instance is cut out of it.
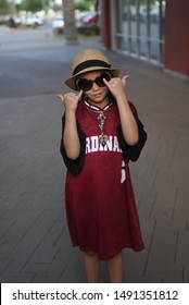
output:
<svg viewBox="0 0 189 305"><path fill-rule="evenodd" d="M146 144L148 135L147 135L147 132L143 129L142 122L138 118L137 110L136 110L135 106L131 102L129 102L129 106L130 106L130 109L134 113L134 117L135 117L137 125L138 125L139 141L134 146L128 145L126 143L125 138L124 138L123 130L122 130L121 124L117 127L117 133L118 133L119 146L121 146L124 155L126 156L126 158L128 160L135 162L135 161L138 160L139 156L141 154L141 150L142 150L142 148Z"/></svg>

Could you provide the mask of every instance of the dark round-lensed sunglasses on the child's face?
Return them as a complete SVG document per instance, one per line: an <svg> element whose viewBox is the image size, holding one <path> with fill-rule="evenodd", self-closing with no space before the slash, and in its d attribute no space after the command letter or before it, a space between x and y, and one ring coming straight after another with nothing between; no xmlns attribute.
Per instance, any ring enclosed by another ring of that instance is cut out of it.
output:
<svg viewBox="0 0 189 305"><path fill-rule="evenodd" d="M88 91L92 88L93 83L96 83L99 87L105 87L105 84L103 82L103 78L105 78L108 82L111 80L112 75L109 72L103 72L99 76L96 77L96 80L87 80L87 78L78 78L76 81L76 86L79 90Z"/></svg>

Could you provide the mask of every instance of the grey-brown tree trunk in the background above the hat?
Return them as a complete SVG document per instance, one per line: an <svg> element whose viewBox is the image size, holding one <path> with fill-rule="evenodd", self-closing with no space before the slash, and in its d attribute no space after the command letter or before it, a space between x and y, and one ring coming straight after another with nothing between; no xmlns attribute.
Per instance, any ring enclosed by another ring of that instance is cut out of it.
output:
<svg viewBox="0 0 189 305"><path fill-rule="evenodd" d="M77 29L75 25L75 5L74 0L62 0L64 35L68 45L78 44Z"/></svg>

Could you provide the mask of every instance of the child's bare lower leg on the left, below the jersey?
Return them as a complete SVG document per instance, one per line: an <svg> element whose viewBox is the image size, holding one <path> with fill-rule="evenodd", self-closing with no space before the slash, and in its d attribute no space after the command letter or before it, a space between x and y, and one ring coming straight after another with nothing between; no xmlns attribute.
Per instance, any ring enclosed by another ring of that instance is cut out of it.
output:
<svg viewBox="0 0 189 305"><path fill-rule="evenodd" d="M88 283L98 283L100 278L100 260L96 252L84 253L84 266Z"/></svg>

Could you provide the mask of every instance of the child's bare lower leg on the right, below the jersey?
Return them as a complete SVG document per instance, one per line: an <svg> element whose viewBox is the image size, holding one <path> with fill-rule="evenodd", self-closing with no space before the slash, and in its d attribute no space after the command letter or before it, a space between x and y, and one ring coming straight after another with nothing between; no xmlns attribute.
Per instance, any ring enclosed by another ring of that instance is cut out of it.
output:
<svg viewBox="0 0 189 305"><path fill-rule="evenodd" d="M122 283L124 278L124 264L122 252L108 260L109 276L112 283Z"/></svg>

